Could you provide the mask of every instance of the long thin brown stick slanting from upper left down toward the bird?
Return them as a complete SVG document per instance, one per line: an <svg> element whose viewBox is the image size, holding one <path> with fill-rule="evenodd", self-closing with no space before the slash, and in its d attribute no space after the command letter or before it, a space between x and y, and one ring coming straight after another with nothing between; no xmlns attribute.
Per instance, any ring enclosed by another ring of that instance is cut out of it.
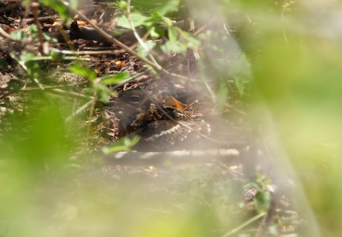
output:
<svg viewBox="0 0 342 237"><path fill-rule="evenodd" d="M103 37L105 37L109 42L115 43L117 46L119 46L120 48L126 50L128 53L132 54L134 57L136 57L137 59L140 59L141 61L143 61L144 63L152 66L156 71L160 72L161 74L164 75L170 75L170 73L168 71L166 71L165 69L163 69L160 65L155 64L153 62L151 62L150 60L141 57L139 54L137 54L134 50L130 49L128 46L124 45L123 43L121 43L119 40L113 38L111 35L107 34L106 32L104 32L100 27L98 27L97 25L95 25L94 23L92 23L86 16L84 16L82 13L80 13L79 11L77 11L76 9L73 9L70 7L68 2L63 1L63 4L68 7L71 11L75 12L76 14L79 15L79 17L87 22L89 25L91 25L92 27L94 27L94 29L97 30L97 32L99 34L101 34Z"/></svg>

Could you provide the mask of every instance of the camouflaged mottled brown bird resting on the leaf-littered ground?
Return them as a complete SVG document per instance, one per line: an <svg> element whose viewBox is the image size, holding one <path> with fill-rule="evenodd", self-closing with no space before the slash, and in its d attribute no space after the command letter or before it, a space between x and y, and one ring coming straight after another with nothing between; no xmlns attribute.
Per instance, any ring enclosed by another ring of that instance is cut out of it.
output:
<svg viewBox="0 0 342 237"><path fill-rule="evenodd" d="M141 139L133 147L137 151L188 149L201 135L210 133L209 124L201 118L163 107L156 96L140 88L121 91L117 103L122 108L118 138L139 135Z"/></svg>

